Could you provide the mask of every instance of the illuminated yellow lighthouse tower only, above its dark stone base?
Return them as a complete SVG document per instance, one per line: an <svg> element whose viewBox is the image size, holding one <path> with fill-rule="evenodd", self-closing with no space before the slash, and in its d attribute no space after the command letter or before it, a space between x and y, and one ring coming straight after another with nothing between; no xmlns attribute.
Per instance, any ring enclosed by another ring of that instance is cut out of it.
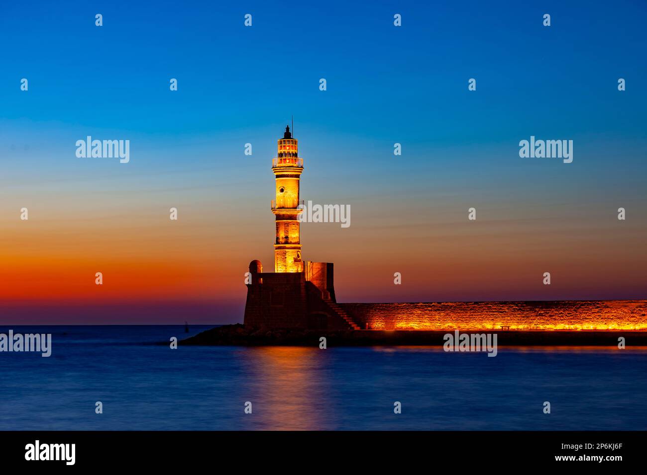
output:
<svg viewBox="0 0 647 475"><path fill-rule="evenodd" d="M276 176L276 200L272 200L272 213L276 216L274 271L303 272L299 240L299 213L303 209L298 207L303 204L299 200L303 159L299 158L297 140L292 138L287 125L283 138L278 140L278 154L272 159L272 171Z"/></svg>

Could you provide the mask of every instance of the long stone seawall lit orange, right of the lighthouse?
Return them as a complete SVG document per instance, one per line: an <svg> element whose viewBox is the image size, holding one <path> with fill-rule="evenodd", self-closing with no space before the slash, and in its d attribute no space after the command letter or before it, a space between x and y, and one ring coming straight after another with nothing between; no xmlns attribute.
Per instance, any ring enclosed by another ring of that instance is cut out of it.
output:
<svg viewBox="0 0 647 475"><path fill-rule="evenodd" d="M339 303L363 330L647 330L647 301Z"/></svg>

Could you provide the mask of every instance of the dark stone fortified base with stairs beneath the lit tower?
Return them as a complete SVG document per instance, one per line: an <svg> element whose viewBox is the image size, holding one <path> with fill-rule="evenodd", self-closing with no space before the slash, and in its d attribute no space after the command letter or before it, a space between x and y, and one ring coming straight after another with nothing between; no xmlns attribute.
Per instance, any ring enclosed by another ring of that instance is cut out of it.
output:
<svg viewBox="0 0 647 475"><path fill-rule="evenodd" d="M263 272L260 261L250 263L245 326L359 330L336 302L333 264L303 262L302 265L300 272Z"/></svg>

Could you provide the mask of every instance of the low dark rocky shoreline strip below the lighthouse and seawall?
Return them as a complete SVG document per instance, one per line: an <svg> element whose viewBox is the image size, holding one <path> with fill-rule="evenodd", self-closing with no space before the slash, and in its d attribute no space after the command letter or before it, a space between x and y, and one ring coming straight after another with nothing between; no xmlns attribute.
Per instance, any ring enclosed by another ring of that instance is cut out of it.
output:
<svg viewBox="0 0 647 475"><path fill-rule="evenodd" d="M461 333L496 333L499 346L608 346L617 348L624 337L627 348L647 346L642 330L472 330ZM326 338L331 346L443 346L446 333L454 330L260 330L242 324L223 325L205 330L179 342L203 346L319 346Z"/></svg>

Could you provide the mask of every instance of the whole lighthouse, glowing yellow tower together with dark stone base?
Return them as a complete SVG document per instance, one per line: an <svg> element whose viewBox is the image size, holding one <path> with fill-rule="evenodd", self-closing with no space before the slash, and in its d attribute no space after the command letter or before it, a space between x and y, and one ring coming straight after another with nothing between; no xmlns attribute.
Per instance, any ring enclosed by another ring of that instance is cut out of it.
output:
<svg viewBox="0 0 647 475"><path fill-rule="evenodd" d="M303 160L290 127L278 140L272 160L276 198L274 272L263 272L258 259L245 273L248 328L329 328L359 330L360 326L336 302L332 262L303 261L299 236L303 200L299 199Z"/></svg>

